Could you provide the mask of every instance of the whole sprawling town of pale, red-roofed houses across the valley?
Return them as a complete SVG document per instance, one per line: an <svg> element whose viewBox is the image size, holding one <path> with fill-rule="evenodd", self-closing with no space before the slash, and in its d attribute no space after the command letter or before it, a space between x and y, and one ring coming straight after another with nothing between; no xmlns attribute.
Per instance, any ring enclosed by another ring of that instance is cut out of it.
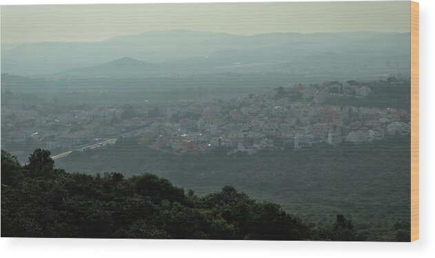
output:
<svg viewBox="0 0 435 258"><path fill-rule="evenodd" d="M254 155L266 149L300 150L408 135L407 110L331 104L332 99L373 94L372 88L352 81L325 81L236 99L134 101L106 107L29 104L11 98L1 103L1 145L31 144L60 153L134 137L174 155L205 154L219 146L227 147L228 154Z"/></svg>

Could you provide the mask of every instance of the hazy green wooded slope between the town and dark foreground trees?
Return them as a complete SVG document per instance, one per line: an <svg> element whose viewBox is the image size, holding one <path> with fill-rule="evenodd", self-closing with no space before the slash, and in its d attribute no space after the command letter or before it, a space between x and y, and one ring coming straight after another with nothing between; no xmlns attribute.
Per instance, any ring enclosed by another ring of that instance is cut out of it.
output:
<svg viewBox="0 0 435 258"><path fill-rule="evenodd" d="M354 230L367 240L395 241L401 228L394 229L394 224L410 220L409 136L363 144L343 142L339 148L327 144L310 150L290 148L249 156L227 155L229 149L221 147L210 155L176 156L120 139L110 148L78 152L57 162L70 171L115 170L127 178L138 171L153 171L204 197L231 184L253 199L280 204L303 221L324 227L342 212L352 215ZM212 197L204 200L210 207L224 200L217 194ZM216 217L212 222L217 226L221 221ZM406 232L409 228L403 224Z"/></svg>

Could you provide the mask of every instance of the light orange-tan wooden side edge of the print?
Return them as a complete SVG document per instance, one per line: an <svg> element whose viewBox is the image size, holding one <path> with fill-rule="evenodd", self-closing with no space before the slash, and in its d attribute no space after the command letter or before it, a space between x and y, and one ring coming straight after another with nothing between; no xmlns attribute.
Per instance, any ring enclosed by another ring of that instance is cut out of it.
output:
<svg viewBox="0 0 435 258"><path fill-rule="evenodd" d="M411 241L419 239L418 2L411 1Z"/></svg>

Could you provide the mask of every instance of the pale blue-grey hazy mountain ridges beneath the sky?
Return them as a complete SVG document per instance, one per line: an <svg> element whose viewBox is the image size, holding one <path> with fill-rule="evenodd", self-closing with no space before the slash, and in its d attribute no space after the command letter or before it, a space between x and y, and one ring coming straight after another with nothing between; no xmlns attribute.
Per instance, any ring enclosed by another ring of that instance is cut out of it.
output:
<svg viewBox="0 0 435 258"><path fill-rule="evenodd" d="M409 70L409 41L409 33L289 32L242 36L169 30L117 36L98 42L39 42L14 48L8 46L1 49L1 72L14 75L70 72L72 76L87 77L93 76L85 71L88 68L100 72L112 69L114 72L119 66L117 73L121 76L271 71L314 74L331 69L343 69L348 75L357 76L361 72L367 73L362 68L376 67L381 73ZM332 60L334 68L327 64L332 56L326 57L325 53L334 53L334 58L338 58ZM134 62L127 57L139 62L138 67L133 68ZM143 60L143 64L139 60ZM307 63L306 60L311 61ZM123 61L127 63L121 65Z"/></svg>

